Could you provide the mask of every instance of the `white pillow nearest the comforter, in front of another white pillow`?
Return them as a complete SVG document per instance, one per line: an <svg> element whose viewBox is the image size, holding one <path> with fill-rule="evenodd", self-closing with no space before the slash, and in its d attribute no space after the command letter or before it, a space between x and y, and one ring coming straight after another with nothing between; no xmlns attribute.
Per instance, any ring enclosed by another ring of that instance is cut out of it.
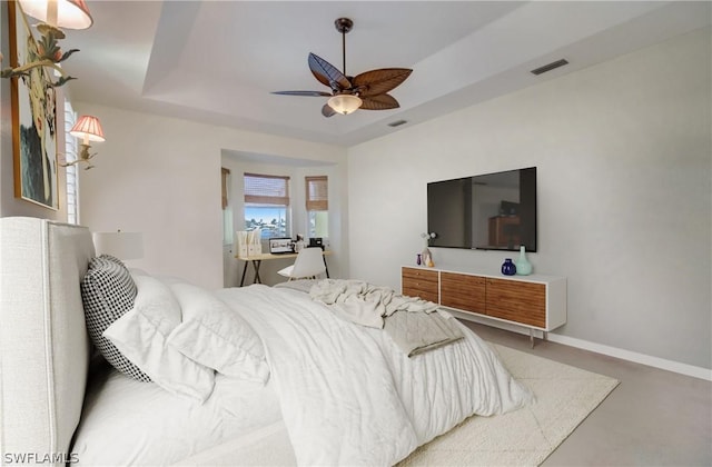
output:
<svg viewBox="0 0 712 467"><path fill-rule="evenodd" d="M190 284L170 284L180 304L182 322L168 345L218 372L266 382L265 347L253 327L214 294Z"/></svg>

